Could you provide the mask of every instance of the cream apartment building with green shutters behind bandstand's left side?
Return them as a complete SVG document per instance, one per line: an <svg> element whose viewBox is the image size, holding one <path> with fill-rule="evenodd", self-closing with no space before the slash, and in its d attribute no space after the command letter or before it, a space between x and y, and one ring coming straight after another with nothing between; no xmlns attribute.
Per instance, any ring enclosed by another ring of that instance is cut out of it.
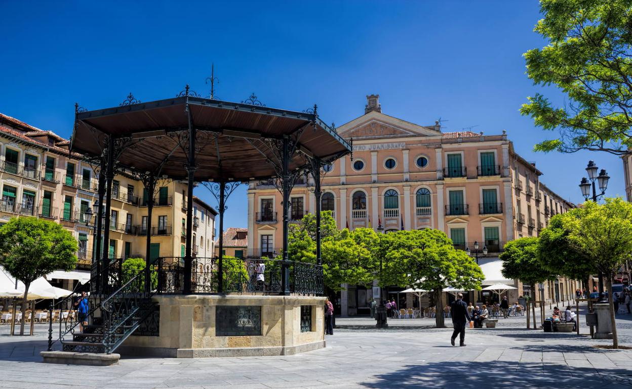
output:
<svg viewBox="0 0 632 389"><path fill-rule="evenodd" d="M69 151L70 142L0 113L0 223L20 216L57 221L79 242L78 269L89 269L95 234L98 178L93 166ZM186 183L166 182L157 190L152 212L150 257L184 255ZM132 175L112 182L110 240L112 258L145 257L147 202L143 183ZM193 255L212 257L217 211L193 199Z"/></svg>

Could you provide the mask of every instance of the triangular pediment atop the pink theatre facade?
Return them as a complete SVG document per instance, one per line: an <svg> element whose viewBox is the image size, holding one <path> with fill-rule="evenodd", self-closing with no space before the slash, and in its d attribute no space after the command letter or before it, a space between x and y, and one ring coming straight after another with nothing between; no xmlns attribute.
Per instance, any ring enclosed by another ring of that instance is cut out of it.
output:
<svg viewBox="0 0 632 389"><path fill-rule="evenodd" d="M340 136L349 139L375 139L410 136L441 136L434 127L423 127L396 119L381 112L369 112L337 128Z"/></svg>

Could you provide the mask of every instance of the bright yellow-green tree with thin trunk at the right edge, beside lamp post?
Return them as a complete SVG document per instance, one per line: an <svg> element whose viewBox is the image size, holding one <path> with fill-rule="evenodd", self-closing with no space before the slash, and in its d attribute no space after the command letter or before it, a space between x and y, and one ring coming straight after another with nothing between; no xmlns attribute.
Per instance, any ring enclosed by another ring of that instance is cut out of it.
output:
<svg viewBox="0 0 632 389"><path fill-rule="evenodd" d="M623 199L605 199L600 205L586 201L583 207L562 214L568 234L561 243L569 252L584 253L594 269L605 276L612 320L612 347L618 347L612 302L612 277L632 257L632 204Z"/></svg>

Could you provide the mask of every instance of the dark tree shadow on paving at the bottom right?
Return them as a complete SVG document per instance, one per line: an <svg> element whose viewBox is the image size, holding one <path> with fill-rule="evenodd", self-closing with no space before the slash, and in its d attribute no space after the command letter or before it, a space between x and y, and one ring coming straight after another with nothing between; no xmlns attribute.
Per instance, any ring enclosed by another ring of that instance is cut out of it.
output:
<svg viewBox="0 0 632 389"><path fill-rule="evenodd" d="M566 364L449 361L408 364L372 376L367 388L616 388L632 385L629 369L572 368ZM619 384L619 385L614 385Z"/></svg>

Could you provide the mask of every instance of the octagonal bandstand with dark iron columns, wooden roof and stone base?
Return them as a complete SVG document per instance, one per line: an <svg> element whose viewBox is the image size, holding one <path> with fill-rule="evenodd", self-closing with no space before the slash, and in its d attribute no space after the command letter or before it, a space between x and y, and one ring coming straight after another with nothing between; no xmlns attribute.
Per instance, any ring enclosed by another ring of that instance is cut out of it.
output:
<svg viewBox="0 0 632 389"><path fill-rule="evenodd" d="M316 106L293 112L255 99L223 102L201 98L187 86L166 100L138 102L130 94L118 107L75 111L71 149L99 171L94 228L102 233L95 233L94 247L102 251L93 258L90 282L75 290L75 296L82 290L89 294L88 326L79 333L76 318L60 320L63 351L201 357L324 347L321 168L351 153L351 146L319 119ZM138 177L147 190L147 265L136 273L121 269L123 259L109 258L103 244L109 241L104 226L110 224L112 180L119 172ZM289 194L307 174L317 199L313 264L288 257ZM225 201L234 187L270 178L283 194L279 257L223 258L221 240L219 257L196 257L192 206L186 207L184 257L151 257L152 207L161 182L187 182L188 204L193 187L207 185L219 201L223 228ZM61 304L69 306L72 298ZM43 355L54 362L52 354Z"/></svg>

